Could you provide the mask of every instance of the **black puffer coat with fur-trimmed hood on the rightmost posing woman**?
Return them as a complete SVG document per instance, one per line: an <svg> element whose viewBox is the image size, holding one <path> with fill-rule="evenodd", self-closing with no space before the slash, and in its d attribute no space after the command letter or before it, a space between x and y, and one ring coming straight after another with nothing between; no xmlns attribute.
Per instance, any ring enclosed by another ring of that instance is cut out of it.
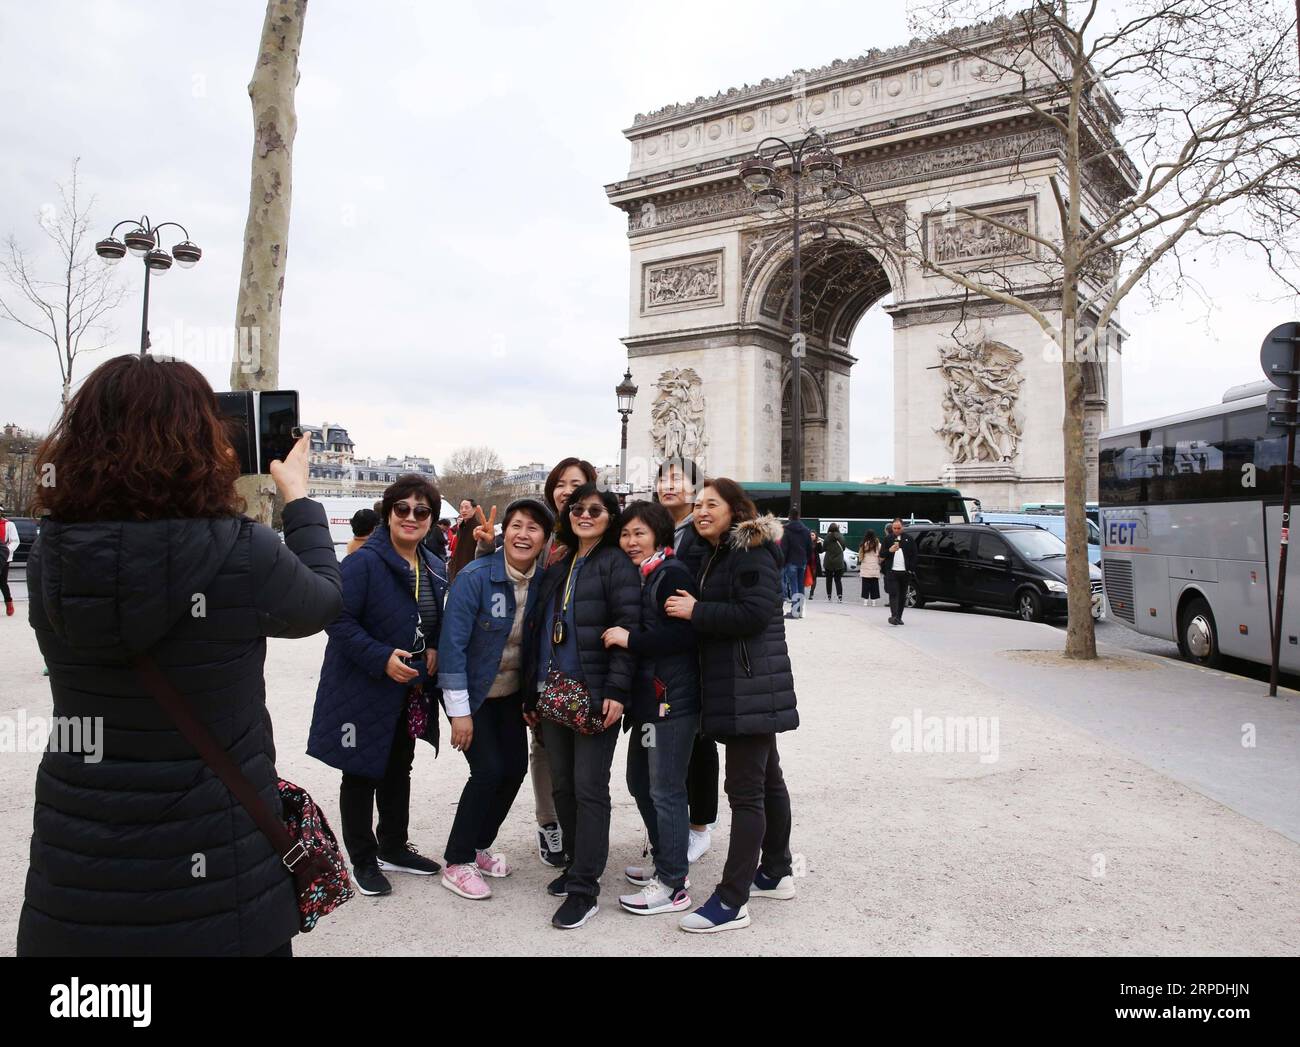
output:
<svg viewBox="0 0 1300 1047"><path fill-rule="evenodd" d="M702 731L708 737L770 735L800 726L781 614L781 524L736 524L705 558L699 602Z"/></svg>

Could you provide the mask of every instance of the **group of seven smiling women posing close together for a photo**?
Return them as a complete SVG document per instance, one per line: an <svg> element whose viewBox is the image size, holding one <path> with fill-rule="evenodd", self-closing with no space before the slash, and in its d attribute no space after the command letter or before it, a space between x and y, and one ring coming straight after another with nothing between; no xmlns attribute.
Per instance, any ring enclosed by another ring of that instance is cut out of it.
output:
<svg viewBox="0 0 1300 1047"><path fill-rule="evenodd" d="M415 475L385 492L380 525L343 561L343 611L326 630L308 752L343 771L358 888L384 895L385 873L441 873L455 895L490 897L488 881L511 873L493 844L532 767L538 856L559 870L546 890L564 899L551 922L582 926L608 858L621 722L651 861L624 870L638 890L620 907L690 908L689 865L716 819L716 741L731 843L722 882L680 926L745 927L751 897L793 897L776 749L776 735L798 726L781 525L689 459L660 466L654 501L620 510L589 462L567 458L542 498L506 507L499 536L481 510L473 527L463 505L443 605L442 561L426 542L439 505ZM469 763L442 865L407 839L415 740L439 736L434 692Z"/></svg>

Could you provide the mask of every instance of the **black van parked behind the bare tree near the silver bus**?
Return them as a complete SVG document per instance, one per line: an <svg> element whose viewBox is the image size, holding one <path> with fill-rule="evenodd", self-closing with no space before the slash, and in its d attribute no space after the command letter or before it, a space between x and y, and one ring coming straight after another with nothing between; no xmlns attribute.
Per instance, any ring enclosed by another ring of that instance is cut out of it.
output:
<svg viewBox="0 0 1300 1047"><path fill-rule="evenodd" d="M1026 622L1066 616L1065 542L1030 524L909 527L915 550L907 606L928 601L1015 611ZM1101 571L1088 564L1092 616L1101 616Z"/></svg>

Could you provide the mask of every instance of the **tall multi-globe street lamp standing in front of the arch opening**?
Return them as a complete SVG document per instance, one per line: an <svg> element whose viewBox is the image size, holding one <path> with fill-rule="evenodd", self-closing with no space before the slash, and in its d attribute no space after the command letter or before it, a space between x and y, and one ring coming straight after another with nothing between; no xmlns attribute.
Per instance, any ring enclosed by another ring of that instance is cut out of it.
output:
<svg viewBox="0 0 1300 1047"><path fill-rule="evenodd" d="M755 207L764 215L779 212L786 192L776 185L776 164L772 156L763 155L763 147L776 143L775 156L785 155L790 160L790 202L793 217L790 226L794 235L793 267L793 326L790 334L790 511L800 507L803 483L803 258L800 242L800 213L803 207L803 176L814 187L822 190L823 199L827 187L840 181L842 161L827 144L826 135L815 127L801 142L790 143L775 135L758 143L754 155L740 165L740 178L754 194ZM841 198L842 199L842 198ZM831 200L833 202L833 200Z"/></svg>

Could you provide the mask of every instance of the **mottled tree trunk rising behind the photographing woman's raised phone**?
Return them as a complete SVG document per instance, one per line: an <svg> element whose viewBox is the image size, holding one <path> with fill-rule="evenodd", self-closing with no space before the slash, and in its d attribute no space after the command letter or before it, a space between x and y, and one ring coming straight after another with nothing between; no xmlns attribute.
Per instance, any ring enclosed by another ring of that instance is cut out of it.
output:
<svg viewBox="0 0 1300 1047"><path fill-rule="evenodd" d="M289 258L294 135L298 116L298 52L307 0L269 0L257 64L248 83L252 100L252 187L244 224L243 267L235 304L237 351L231 389L274 389L280 382L280 306ZM239 493L248 515L270 524L274 484L244 476Z"/></svg>

